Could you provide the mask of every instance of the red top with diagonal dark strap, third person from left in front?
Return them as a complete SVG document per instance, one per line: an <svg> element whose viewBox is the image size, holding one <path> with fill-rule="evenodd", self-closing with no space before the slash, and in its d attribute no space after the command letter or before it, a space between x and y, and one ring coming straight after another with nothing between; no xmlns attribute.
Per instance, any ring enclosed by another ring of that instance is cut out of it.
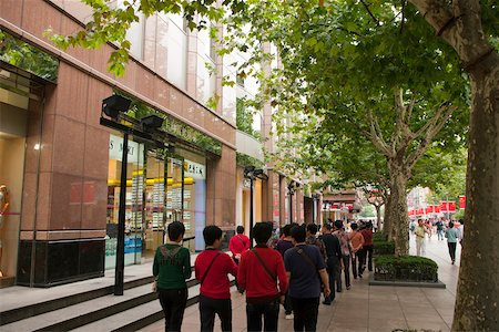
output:
<svg viewBox="0 0 499 332"><path fill-rule="evenodd" d="M277 250L271 248L255 247L267 266L268 270L277 277L273 280L265 271L258 258L252 250L245 251L241 257L240 271L237 273L237 284L246 290L246 298L272 298L285 294L287 290L287 277L284 268L283 257Z"/></svg>

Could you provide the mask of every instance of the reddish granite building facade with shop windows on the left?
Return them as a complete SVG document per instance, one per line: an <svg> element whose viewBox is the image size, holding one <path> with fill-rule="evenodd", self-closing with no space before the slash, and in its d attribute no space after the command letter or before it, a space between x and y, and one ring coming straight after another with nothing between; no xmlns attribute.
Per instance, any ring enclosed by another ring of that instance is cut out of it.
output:
<svg viewBox="0 0 499 332"><path fill-rule="evenodd" d="M123 1L115 1L121 6ZM133 101L138 121L164 120L162 146L131 136L125 193L125 263L150 261L165 227L186 227L184 246L204 247L202 230L248 231L248 187L237 153L263 158L258 141L237 139L236 79L206 31L191 32L181 15L141 17L129 31L123 76L108 71L114 45L54 48L45 30L70 34L91 17L75 0L0 1L1 281L49 287L101 277L115 263L123 135L101 125L102 101ZM213 64L217 73L210 72ZM220 102L210 108L211 97ZM259 132L272 129L262 111ZM249 145L248 145L249 144ZM265 144L272 144L265 143ZM244 151L249 146L251 151ZM266 167L254 187L254 220L282 226L312 221L303 190ZM293 212L292 212L293 211Z"/></svg>

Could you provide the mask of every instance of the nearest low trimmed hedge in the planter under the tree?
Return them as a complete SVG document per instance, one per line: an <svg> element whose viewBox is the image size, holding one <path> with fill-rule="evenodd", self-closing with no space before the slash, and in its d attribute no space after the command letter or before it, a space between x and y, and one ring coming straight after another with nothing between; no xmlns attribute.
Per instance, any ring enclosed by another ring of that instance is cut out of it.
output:
<svg viewBox="0 0 499 332"><path fill-rule="evenodd" d="M419 256L379 256L374 258L375 280L437 282L438 266Z"/></svg>

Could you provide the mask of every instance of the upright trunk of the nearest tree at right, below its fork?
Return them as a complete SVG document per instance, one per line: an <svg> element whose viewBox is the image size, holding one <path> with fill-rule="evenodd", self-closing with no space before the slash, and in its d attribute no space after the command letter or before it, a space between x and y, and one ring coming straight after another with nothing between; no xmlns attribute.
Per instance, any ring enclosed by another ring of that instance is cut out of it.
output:
<svg viewBox="0 0 499 332"><path fill-rule="evenodd" d="M470 76L466 232L452 331L499 331L499 55Z"/></svg>

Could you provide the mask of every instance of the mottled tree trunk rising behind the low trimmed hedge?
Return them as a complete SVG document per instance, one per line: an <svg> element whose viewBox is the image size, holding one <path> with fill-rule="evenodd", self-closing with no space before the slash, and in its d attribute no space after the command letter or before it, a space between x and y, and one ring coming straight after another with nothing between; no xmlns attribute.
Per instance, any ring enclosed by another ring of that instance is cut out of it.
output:
<svg viewBox="0 0 499 332"><path fill-rule="evenodd" d="M407 218L407 175L400 165L391 164L390 169L390 211L391 237L395 241L395 256L409 255L409 222Z"/></svg>

